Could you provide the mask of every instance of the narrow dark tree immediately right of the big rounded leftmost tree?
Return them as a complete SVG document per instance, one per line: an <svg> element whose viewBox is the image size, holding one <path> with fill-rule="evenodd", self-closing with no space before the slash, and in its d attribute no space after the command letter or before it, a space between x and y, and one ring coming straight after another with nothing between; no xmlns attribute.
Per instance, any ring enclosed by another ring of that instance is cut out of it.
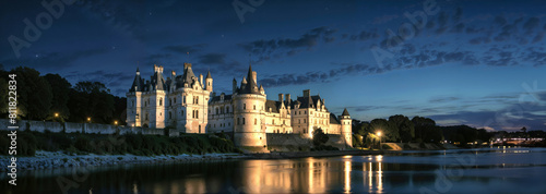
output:
<svg viewBox="0 0 546 194"><path fill-rule="evenodd" d="M50 114L55 116L55 113L58 113L61 121L64 121L70 117L68 101L70 97L70 88L72 87L72 85L59 74L47 74L44 76L44 78L46 78L46 81L51 86L51 92L54 95Z"/></svg>

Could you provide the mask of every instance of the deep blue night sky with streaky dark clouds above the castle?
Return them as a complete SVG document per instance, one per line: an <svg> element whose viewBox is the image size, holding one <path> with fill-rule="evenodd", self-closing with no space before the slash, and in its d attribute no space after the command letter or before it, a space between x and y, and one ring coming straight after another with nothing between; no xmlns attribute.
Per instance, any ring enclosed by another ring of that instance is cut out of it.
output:
<svg viewBox="0 0 546 194"><path fill-rule="evenodd" d="M354 119L546 129L543 1L252 3L80 1L51 16L40 1L2 0L0 63L99 81L124 96L136 66L149 80L154 64L168 75L191 62L195 74L211 71L217 94L230 94L251 62L269 99L311 89ZM24 20L36 17L39 37L25 37Z"/></svg>

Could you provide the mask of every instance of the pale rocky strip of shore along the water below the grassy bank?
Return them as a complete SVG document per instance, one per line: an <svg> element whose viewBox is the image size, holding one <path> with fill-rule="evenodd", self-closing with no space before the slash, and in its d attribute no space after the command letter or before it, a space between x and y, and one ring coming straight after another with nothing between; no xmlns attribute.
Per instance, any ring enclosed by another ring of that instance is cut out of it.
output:
<svg viewBox="0 0 546 194"><path fill-rule="evenodd" d="M10 166L10 157L2 156L0 165ZM158 163L158 162L193 162L224 159L251 158L242 154L203 154L203 155L162 155L162 156L135 156L135 155L68 155L63 151L37 150L33 157L17 157L17 170L56 169L66 167L86 166L116 166L126 163ZM0 168L7 171L8 168Z"/></svg>

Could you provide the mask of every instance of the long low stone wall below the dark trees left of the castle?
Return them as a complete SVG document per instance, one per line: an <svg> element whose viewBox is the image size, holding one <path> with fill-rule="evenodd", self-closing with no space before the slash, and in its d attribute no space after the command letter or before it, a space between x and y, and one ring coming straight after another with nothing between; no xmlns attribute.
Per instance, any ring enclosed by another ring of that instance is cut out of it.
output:
<svg viewBox="0 0 546 194"><path fill-rule="evenodd" d="M8 119L0 119L0 130L8 130ZM117 126L110 124L98 123L71 123L71 122L49 122L49 121L17 121L19 131L31 130L44 133L46 130L50 132L66 133L95 133L95 134L144 134L144 135L164 135L164 130L149 129L149 128L131 128L131 126ZM170 135L177 136L177 132L169 132Z"/></svg>

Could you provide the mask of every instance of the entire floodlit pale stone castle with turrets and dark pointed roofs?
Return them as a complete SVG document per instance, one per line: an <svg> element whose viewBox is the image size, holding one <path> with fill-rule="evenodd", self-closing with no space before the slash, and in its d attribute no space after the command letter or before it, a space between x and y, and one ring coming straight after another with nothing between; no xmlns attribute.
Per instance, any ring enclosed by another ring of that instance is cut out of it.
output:
<svg viewBox="0 0 546 194"><path fill-rule="evenodd" d="M127 123L129 126L164 129L173 126L183 133L234 134L237 146L265 146L268 133L304 134L312 137L316 129L327 134L342 135L352 146L352 120L345 109L339 118L331 113L320 95L295 100L289 94L278 94L278 100L266 98L257 82L257 72L249 65L240 85L233 80L232 94L216 95L213 78L207 72L199 78L191 63L183 64L183 74L171 72L164 77L163 66L154 65L154 74L144 80L136 69L133 84L127 93Z"/></svg>

